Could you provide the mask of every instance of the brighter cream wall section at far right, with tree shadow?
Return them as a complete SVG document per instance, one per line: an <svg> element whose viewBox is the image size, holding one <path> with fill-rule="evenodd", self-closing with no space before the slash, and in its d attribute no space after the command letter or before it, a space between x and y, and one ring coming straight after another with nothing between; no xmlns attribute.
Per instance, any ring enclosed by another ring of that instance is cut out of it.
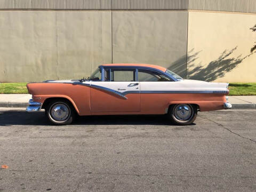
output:
<svg viewBox="0 0 256 192"><path fill-rule="evenodd" d="M256 81L256 14L189 11L188 23L188 78Z"/></svg>

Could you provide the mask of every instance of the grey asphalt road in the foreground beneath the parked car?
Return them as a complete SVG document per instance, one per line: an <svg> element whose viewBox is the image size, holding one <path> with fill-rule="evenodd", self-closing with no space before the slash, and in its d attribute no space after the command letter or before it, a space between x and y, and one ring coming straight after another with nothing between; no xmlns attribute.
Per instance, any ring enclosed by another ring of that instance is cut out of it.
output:
<svg viewBox="0 0 256 192"><path fill-rule="evenodd" d="M256 110L93 116L0 109L0 191L256 191Z"/></svg>

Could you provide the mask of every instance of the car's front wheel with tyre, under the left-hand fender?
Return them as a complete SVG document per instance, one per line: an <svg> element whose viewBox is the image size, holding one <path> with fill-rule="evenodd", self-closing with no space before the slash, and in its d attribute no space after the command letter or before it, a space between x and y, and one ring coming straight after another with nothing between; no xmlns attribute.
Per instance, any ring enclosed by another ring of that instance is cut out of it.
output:
<svg viewBox="0 0 256 192"><path fill-rule="evenodd" d="M68 125L74 119L74 109L70 103L55 100L49 103L46 108L46 116L55 125Z"/></svg>

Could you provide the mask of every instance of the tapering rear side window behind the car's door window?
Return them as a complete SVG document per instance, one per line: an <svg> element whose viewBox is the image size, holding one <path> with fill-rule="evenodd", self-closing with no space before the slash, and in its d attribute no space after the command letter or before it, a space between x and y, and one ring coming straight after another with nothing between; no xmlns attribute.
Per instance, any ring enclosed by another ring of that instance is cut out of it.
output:
<svg viewBox="0 0 256 192"><path fill-rule="evenodd" d="M169 77L156 71L139 69L139 82L166 82L172 81Z"/></svg>

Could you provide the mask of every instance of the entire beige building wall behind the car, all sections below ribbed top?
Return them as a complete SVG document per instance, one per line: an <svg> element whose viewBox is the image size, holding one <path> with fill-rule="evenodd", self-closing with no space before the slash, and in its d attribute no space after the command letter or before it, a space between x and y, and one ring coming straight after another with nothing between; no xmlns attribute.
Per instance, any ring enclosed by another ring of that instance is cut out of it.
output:
<svg viewBox="0 0 256 192"><path fill-rule="evenodd" d="M255 13L193 10L2 10L0 82L82 78L111 62L152 63L205 81L255 82L255 21Z"/></svg>

